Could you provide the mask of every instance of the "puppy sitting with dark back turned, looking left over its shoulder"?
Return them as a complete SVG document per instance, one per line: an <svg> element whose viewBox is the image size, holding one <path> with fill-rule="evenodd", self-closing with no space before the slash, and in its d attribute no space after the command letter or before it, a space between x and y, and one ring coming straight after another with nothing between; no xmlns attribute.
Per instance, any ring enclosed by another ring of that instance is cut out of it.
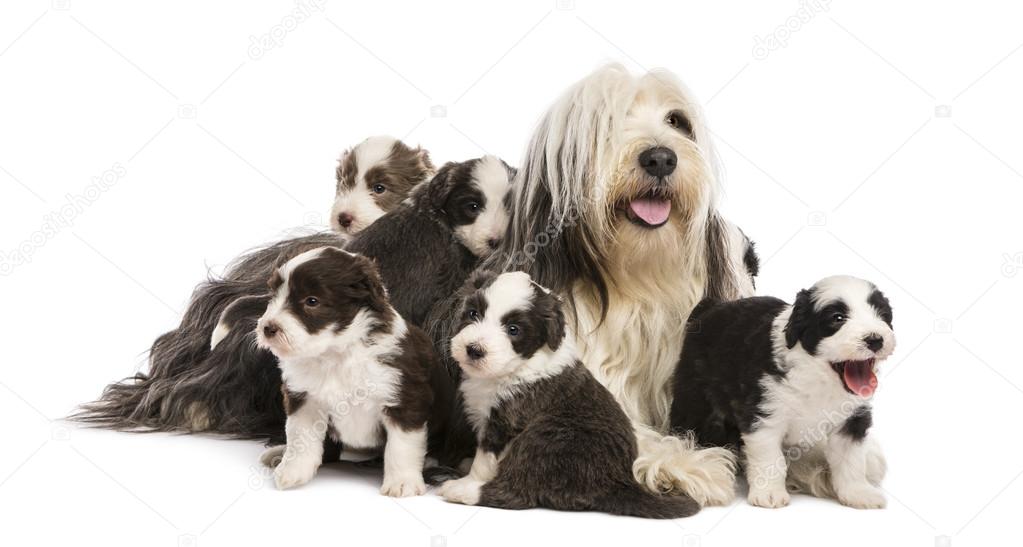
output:
<svg viewBox="0 0 1023 547"><path fill-rule="evenodd" d="M448 501L677 518L700 506L658 496L632 475L636 438L611 393L579 361L558 297L528 274L475 274L451 353L478 448Z"/></svg>

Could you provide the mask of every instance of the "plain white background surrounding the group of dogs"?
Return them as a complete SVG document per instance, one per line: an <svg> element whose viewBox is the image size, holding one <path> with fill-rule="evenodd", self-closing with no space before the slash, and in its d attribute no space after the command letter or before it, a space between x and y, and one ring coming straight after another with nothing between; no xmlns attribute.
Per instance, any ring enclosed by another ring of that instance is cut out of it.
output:
<svg viewBox="0 0 1023 547"><path fill-rule="evenodd" d="M1014 541L1018 7L328 0L293 25L286 0L11 4L0 8L2 543ZM251 49L284 26L274 47ZM388 499L353 468L281 493L257 443L58 420L144 364L208 269L322 224L345 146L390 133L439 162L515 163L547 104L609 60L668 67L706 104L723 207L759 245L761 292L791 300L849 273L891 298L899 347L876 406L888 509L796 497L660 522L505 512ZM54 229L52 215L66 223Z"/></svg>

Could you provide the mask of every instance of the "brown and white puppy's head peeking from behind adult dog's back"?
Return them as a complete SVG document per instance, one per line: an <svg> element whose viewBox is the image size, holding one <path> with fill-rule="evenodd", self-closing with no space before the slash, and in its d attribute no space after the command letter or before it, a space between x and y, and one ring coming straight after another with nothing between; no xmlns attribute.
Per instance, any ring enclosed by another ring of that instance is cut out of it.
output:
<svg viewBox="0 0 1023 547"><path fill-rule="evenodd" d="M369 137L338 159L330 228L355 235L394 211L416 185L434 176L430 152L386 135Z"/></svg>

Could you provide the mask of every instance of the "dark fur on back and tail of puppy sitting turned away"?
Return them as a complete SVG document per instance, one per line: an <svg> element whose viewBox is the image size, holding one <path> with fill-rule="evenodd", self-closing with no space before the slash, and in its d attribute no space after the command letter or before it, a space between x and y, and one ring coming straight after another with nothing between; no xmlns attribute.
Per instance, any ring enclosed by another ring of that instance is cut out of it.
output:
<svg viewBox="0 0 1023 547"><path fill-rule="evenodd" d="M481 448L501 454L501 461L480 491L480 505L648 518L700 510L692 498L658 496L636 483L631 422L582 363L522 385L491 411L484 427Z"/></svg>

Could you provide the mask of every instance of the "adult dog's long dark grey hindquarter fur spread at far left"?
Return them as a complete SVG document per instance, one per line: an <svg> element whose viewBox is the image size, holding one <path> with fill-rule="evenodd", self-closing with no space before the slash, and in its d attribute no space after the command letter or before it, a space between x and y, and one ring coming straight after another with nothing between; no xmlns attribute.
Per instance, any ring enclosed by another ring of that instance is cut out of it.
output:
<svg viewBox="0 0 1023 547"><path fill-rule="evenodd" d="M338 244L332 233L280 241L249 253L192 293L178 328L158 337L148 373L108 385L71 419L97 427L138 431L210 431L243 439L281 440L284 412L280 371L272 354L256 347L257 307L232 314L229 331L211 338L224 310L242 297L266 292L273 268L309 248Z"/></svg>

